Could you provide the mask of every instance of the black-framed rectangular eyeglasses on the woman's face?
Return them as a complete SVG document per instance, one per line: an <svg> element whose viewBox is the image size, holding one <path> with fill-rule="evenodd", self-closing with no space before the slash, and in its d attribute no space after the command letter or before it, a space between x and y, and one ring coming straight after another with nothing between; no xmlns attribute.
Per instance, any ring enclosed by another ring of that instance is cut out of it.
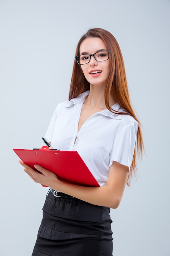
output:
<svg viewBox="0 0 170 256"><path fill-rule="evenodd" d="M100 51L100 52L95 52L94 54L81 54L81 55L75 56L75 59L79 65L84 65L90 62L91 56L93 56L96 61L107 61L109 58L109 52Z"/></svg>

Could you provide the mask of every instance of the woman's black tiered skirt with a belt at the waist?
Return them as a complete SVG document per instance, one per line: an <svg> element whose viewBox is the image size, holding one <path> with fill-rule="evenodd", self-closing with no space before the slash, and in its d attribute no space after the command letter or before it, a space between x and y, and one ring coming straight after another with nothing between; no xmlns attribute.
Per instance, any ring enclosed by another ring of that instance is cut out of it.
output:
<svg viewBox="0 0 170 256"><path fill-rule="evenodd" d="M49 192L32 256L112 256L110 208Z"/></svg>

